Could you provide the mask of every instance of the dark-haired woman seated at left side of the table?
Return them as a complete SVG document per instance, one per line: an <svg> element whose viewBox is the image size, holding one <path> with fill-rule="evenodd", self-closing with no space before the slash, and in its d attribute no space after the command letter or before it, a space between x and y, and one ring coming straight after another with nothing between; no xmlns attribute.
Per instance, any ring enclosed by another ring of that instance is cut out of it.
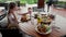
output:
<svg viewBox="0 0 66 37"><path fill-rule="evenodd" d="M19 27L19 23L15 16L15 11L18 10L18 5L13 2L9 4L9 13L8 13L8 21L9 21L9 28L10 27Z"/></svg>

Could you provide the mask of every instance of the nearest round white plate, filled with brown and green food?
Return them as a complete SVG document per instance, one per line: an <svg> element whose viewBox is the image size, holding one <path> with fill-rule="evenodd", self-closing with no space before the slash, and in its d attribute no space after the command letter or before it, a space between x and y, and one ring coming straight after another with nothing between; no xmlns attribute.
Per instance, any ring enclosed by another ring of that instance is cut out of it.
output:
<svg viewBox="0 0 66 37"><path fill-rule="evenodd" d="M37 25L35 30L40 34L47 35L52 33L52 28L48 25Z"/></svg>

